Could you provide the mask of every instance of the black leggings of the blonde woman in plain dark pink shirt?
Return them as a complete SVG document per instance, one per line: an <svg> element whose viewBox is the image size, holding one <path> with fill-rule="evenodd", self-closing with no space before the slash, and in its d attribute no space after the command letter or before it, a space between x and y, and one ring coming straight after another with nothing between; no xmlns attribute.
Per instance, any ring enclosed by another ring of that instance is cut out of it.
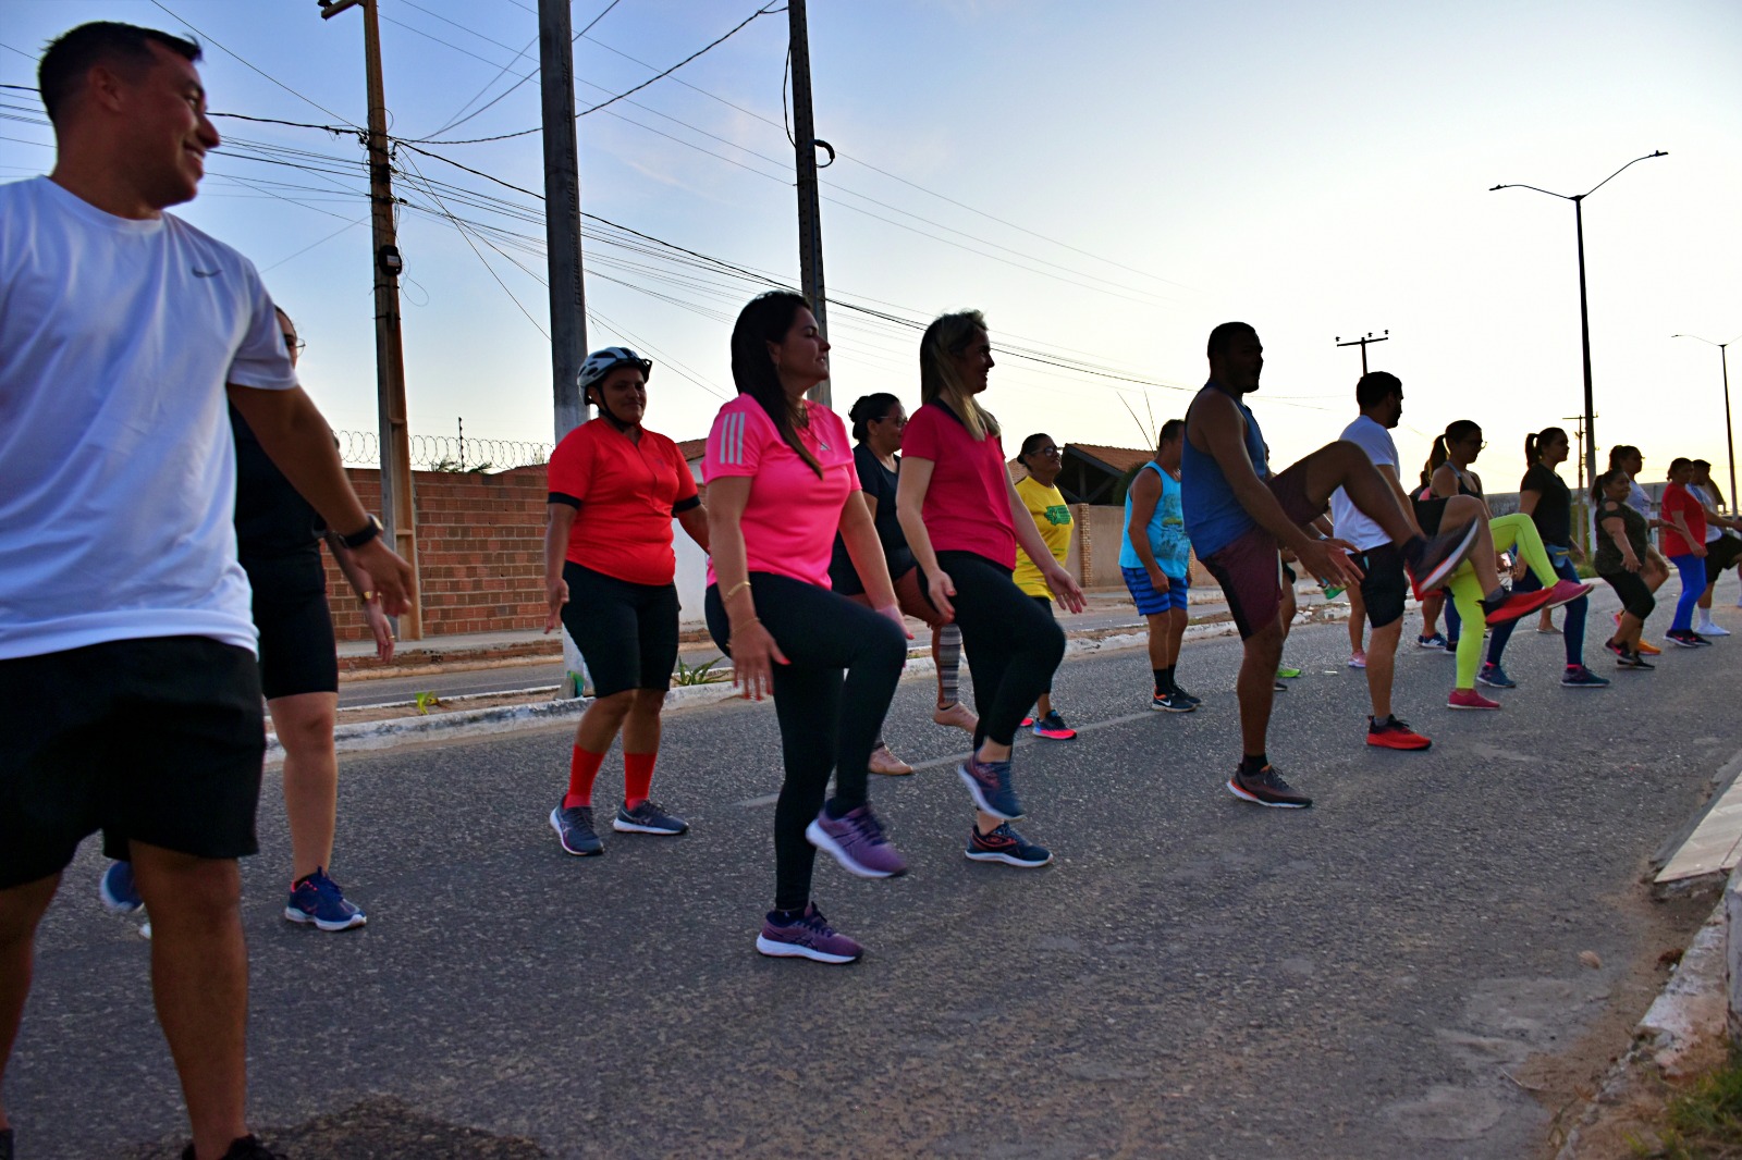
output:
<svg viewBox="0 0 1742 1160"><path fill-rule="evenodd" d="M937 566L956 585L951 604L981 719L974 749L982 740L1009 745L1028 707L1052 688L1052 672L1064 660L1064 631L1050 610L1016 587L1009 568L976 552L939 552Z"/></svg>

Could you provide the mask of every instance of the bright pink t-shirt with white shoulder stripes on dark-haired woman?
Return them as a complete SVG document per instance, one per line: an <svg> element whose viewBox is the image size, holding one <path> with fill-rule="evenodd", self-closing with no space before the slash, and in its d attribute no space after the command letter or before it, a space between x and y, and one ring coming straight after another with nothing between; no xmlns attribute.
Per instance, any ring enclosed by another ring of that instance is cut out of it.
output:
<svg viewBox="0 0 1742 1160"><path fill-rule="evenodd" d="M822 465L822 479L786 446L773 420L749 395L739 395L714 416L702 479L749 475L751 498L740 528L751 571L772 571L826 589L834 531L841 526L847 496L859 491L859 472L840 416L808 399L805 413L810 423L798 437ZM716 582L712 559L707 561L707 582Z"/></svg>

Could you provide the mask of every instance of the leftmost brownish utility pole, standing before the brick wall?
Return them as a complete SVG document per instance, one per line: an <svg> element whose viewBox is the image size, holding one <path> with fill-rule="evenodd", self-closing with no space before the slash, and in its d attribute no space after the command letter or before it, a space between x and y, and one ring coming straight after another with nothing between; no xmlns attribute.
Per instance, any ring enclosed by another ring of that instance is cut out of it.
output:
<svg viewBox="0 0 1742 1160"><path fill-rule="evenodd" d="M394 550L418 573L416 509L411 496L411 432L406 425L406 352L399 338L399 256L394 185L387 152L387 98L381 94L381 31L375 0L321 0L321 19L362 7L362 56L369 85L369 206L375 242L375 387L381 444L381 524ZM423 585L399 617L399 639L423 639Z"/></svg>

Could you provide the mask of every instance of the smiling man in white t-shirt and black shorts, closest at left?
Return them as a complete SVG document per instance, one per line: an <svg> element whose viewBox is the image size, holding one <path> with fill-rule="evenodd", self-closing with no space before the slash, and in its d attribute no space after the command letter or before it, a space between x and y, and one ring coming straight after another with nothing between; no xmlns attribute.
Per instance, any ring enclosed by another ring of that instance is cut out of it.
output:
<svg viewBox="0 0 1742 1160"><path fill-rule="evenodd" d="M162 212L218 145L195 59L153 30L71 30L38 70L54 171L0 186L0 1066L37 923L101 829L131 843L152 911L185 1155L246 1160L270 1155L244 1118L237 906L263 721L226 397L388 613L411 571L296 385L254 266Z"/></svg>

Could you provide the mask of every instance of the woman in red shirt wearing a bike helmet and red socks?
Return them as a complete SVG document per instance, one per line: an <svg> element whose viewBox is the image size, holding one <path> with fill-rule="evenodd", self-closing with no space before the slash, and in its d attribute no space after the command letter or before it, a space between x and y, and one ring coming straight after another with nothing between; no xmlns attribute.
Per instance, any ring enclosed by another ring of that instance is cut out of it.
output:
<svg viewBox="0 0 1742 1160"><path fill-rule="evenodd" d="M594 702L575 726L568 792L550 829L573 855L604 853L592 827L592 782L618 730L624 803L611 829L681 834L690 826L648 799L658 759L660 707L678 664L678 557L671 521L707 550L707 512L683 453L646 430L648 371L627 347L587 355L580 392L599 418L550 453L545 524L545 632L561 624L575 639Z"/></svg>

